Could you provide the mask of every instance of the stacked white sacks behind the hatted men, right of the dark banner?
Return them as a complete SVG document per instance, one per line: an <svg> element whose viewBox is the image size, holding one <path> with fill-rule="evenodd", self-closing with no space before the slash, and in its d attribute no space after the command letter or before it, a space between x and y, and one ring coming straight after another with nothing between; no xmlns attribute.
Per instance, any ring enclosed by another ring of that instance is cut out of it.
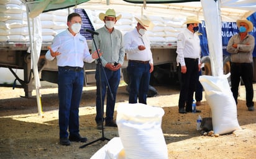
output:
<svg viewBox="0 0 256 159"><path fill-rule="evenodd" d="M103 27L104 22L101 21L98 17L99 13L106 11L91 11L93 16L93 25L95 29ZM134 17L139 17L139 15L133 15L130 13L116 13L117 15L121 14L122 18L117 20L115 27L121 30L124 35L126 32L132 30L137 25L137 21ZM149 35L150 41L153 42L176 42L178 33L181 30L184 30L186 25L183 25L185 19L178 18L168 18L168 17L157 17L157 16L148 16L152 20L155 27L153 30L148 30L147 34Z"/></svg>

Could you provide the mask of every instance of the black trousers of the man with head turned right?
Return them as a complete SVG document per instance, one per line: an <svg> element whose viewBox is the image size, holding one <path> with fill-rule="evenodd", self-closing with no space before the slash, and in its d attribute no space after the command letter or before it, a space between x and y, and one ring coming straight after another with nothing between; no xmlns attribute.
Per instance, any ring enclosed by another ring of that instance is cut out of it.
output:
<svg viewBox="0 0 256 159"><path fill-rule="evenodd" d="M185 58L186 74L181 74L181 90L178 106L192 111L196 82L198 81L198 59ZM181 66L180 66L181 67Z"/></svg>

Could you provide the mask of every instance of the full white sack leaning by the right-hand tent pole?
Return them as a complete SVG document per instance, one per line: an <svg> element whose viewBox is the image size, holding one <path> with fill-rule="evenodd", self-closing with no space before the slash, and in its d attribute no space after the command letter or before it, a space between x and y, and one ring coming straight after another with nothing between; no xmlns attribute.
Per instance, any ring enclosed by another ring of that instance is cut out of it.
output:
<svg viewBox="0 0 256 159"><path fill-rule="evenodd" d="M212 111L215 134L228 134L241 129L237 121L237 106L227 81L228 75L199 77Z"/></svg>

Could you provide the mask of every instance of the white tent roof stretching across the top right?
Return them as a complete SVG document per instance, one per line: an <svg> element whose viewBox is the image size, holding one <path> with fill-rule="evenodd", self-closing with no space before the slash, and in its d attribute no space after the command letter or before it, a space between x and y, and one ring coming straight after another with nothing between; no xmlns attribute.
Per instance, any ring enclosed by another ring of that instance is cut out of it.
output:
<svg viewBox="0 0 256 159"><path fill-rule="evenodd" d="M212 0L213 1L213 0ZM109 5L106 5L106 4ZM128 12L135 15L156 15L160 17L178 17L185 19L189 15L198 15L204 20L201 2L183 2L171 4L134 4L121 0L91 0L77 7L106 11L108 8L116 12ZM224 22L235 22L256 12L255 0L222 0L221 18Z"/></svg>

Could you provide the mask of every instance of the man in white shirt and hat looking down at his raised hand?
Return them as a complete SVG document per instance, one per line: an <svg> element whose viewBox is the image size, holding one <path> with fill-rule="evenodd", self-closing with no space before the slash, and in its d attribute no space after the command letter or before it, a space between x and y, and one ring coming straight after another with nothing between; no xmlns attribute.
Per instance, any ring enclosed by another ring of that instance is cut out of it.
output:
<svg viewBox="0 0 256 159"><path fill-rule="evenodd" d="M124 48L129 60L127 72L130 77L129 103L147 105L150 73L153 71L153 58L150 41L145 32L153 28L152 22L143 15L141 19L135 17L137 26L124 35Z"/></svg>

